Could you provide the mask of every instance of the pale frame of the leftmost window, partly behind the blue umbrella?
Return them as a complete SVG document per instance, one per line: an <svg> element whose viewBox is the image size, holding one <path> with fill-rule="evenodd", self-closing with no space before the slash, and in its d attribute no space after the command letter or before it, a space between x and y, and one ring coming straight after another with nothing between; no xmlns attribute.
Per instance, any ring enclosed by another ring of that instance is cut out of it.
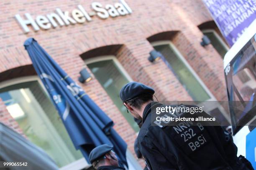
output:
<svg viewBox="0 0 256 170"><path fill-rule="evenodd" d="M39 85L42 87L42 89L44 90L44 92L46 93L46 95L49 97L49 94L48 94L46 88L44 87L44 84L41 82L40 78L36 75L18 77L18 78L13 78L11 80L6 80L3 82L0 82L0 89L11 86L11 85L16 85L16 84L20 84L23 82L30 82L30 81L37 81L39 83ZM72 167L72 170L81 170L82 168L90 167L90 164L87 163L87 161L84 158L80 158L79 160L69 163L68 165L60 167L59 169L60 170L70 170L71 167Z"/></svg>

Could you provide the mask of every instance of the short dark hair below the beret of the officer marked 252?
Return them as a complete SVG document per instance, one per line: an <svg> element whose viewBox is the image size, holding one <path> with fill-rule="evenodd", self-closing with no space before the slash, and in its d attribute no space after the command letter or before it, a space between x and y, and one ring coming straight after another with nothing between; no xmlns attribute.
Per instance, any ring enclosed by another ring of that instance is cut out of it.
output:
<svg viewBox="0 0 256 170"><path fill-rule="evenodd" d="M140 109L141 105L150 100L153 101L153 95L149 93L144 93L136 97L133 97L132 99L129 99L125 102L137 109Z"/></svg>

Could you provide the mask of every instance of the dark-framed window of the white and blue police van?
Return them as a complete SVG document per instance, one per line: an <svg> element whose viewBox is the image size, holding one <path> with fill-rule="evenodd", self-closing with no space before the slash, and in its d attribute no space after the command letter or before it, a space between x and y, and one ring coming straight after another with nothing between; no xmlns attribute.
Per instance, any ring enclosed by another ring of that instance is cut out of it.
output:
<svg viewBox="0 0 256 170"><path fill-rule="evenodd" d="M225 68L230 117L236 133L240 126L255 120L256 112L256 41L254 36ZM241 75L246 73L246 79Z"/></svg>

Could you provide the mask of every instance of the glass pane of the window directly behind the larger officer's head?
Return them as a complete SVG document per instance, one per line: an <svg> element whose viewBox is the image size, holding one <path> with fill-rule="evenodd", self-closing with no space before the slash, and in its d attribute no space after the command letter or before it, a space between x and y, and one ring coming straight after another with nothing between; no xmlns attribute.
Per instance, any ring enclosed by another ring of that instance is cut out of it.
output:
<svg viewBox="0 0 256 170"><path fill-rule="evenodd" d="M118 107L120 112L132 126L132 128L138 132L139 128L136 122L134 122L131 114L127 113L125 106L120 100L120 89L128 83L128 79L123 75L119 67L115 64L114 60L102 60L87 64L90 70L95 75L96 79L100 82L102 87L106 90L109 97L113 100L114 104Z"/></svg>

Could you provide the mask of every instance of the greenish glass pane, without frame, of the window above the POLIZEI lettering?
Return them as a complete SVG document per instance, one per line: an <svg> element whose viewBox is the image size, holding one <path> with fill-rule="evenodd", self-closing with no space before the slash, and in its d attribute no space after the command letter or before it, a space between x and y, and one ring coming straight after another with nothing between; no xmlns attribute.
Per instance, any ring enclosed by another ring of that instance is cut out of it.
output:
<svg viewBox="0 0 256 170"><path fill-rule="evenodd" d="M210 96L207 94L205 89L197 81L195 76L190 72L177 53L174 52L170 44L156 45L154 48L164 55L171 65L174 74L179 79L179 82L184 86L193 100L205 101L210 99Z"/></svg>

